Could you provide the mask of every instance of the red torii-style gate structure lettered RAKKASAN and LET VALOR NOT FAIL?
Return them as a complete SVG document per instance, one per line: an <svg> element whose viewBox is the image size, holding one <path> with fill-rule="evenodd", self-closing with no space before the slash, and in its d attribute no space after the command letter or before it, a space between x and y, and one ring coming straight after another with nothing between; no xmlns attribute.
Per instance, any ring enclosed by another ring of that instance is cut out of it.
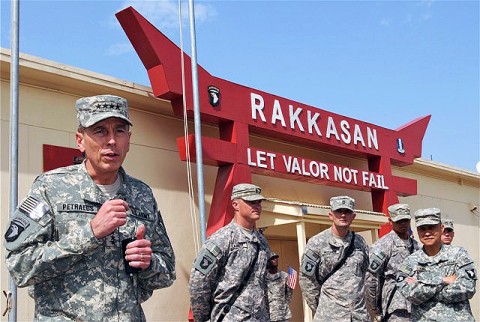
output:
<svg viewBox="0 0 480 322"><path fill-rule="evenodd" d="M182 94L181 52L132 7L117 13L122 28L143 62L154 95L172 102L174 113L193 115L190 58L184 54L186 95ZM218 166L207 235L232 219L233 185L251 182L252 173L307 181L314 184L370 191L373 211L387 212L398 196L417 193L416 180L392 175L392 164L412 164L421 156L430 115L397 130L386 129L283 97L245 87L198 68L202 122L214 123L219 138L202 137L204 162ZM367 160L368 171L264 151L250 146L256 133L298 145ZM190 151L194 137L188 138ZM185 160L185 141L177 144ZM382 227L380 235L390 231Z"/></svg>

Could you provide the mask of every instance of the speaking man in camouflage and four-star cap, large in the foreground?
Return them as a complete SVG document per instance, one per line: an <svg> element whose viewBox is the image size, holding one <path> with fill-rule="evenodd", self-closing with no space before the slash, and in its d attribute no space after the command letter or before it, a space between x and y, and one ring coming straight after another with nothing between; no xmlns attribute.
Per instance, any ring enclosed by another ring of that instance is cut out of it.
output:
<svg viewBox="0 0 480 322"><path fill-rule="evenodd" d="M33 285L38 321L145 321L141 303L173 283L175 259L151 189L121 167L127 101L76 107L85 160L36 178L5 234L7 268Z"/></svg>

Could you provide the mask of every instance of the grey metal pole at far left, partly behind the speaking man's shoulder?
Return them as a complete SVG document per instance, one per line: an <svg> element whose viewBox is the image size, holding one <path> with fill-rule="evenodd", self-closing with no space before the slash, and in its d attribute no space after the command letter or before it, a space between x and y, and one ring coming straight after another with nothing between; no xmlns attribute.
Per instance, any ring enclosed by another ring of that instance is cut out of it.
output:
<svg viewBox="0 0 480 322"><path fill-rule="evenodd" d="M11 218L18 204L18 62L19 62L19 1L11 1L11 62L10 62L10 212ZM8 320L17 321L17 286L9 277L11 310Z"/></svg>

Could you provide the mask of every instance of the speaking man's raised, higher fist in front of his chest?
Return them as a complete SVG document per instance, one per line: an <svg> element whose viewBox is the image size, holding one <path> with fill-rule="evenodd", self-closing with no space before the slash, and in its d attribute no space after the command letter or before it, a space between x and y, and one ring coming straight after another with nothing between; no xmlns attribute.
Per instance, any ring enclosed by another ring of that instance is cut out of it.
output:
<svg viewBox="0 0 480 322"><path fill-rule="evenodd" d="M105 202L90 222L93 234L98 239L110 235L127 222L128 204L122 199Z"/></svg>

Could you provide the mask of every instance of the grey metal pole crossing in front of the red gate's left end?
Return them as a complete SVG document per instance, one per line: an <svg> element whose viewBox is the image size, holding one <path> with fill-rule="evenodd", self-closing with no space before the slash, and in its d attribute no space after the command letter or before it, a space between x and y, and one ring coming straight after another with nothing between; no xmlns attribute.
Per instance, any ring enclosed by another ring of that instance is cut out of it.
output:
<svg viewBox="0 0 480 322"><path fill-rule="evenodd" d="M205 220L205 193L203 183L203 154L202 154L202 122L200 119L200 99L198 96L197 47L195 39L195 11L193 0L188 0L190 18L190 39L192 46L192 90L193 90L193 120L195 124L195 153L197 159L197 187L198 209L200 212L200 233L202 243L207 239Z"/></svg>

